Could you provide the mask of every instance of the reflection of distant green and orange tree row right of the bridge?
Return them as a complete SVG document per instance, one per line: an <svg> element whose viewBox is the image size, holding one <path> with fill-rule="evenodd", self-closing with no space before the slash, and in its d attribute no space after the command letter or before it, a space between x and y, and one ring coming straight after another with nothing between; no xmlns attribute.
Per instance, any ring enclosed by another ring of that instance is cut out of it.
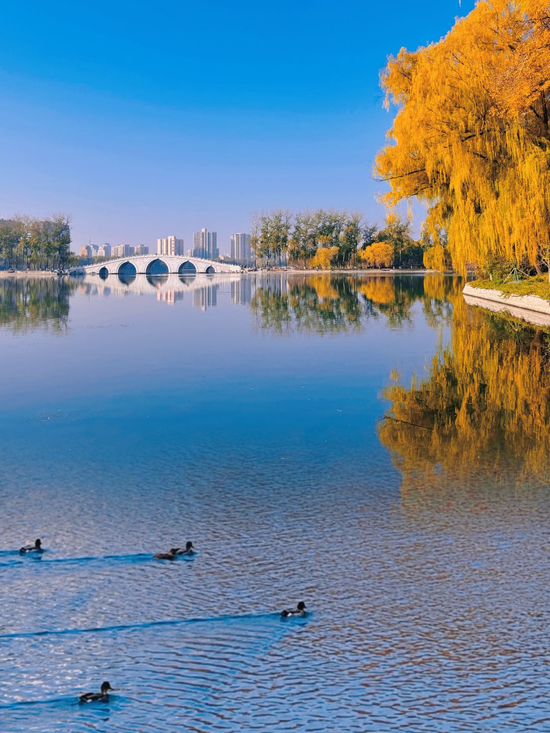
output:
<svg viewBox="0 0 550 733"><path fill-rule="evenodd" d="M411 307L422 301L435 326L449 319L447 294L459 282L444 276L267 276L257 284L251 308L263 331L329 334L359 331L380 316L400 328L412 322Z"/></svg>

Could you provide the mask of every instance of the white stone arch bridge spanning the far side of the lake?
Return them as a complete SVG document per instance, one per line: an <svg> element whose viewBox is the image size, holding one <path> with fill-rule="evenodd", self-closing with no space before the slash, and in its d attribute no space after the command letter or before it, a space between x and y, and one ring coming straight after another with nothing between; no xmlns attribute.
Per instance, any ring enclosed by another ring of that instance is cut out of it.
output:
<svg viewBox="0 0 550 733"><path fill-rule="evenodd" d="M98 262L95 265L85 265L84 270L89 275L194 275L206 273L240 273L240 265L229 265L224 262L216 262L213 259L202 259L202 257L174 257L164 254L136 254L131 257L115 257L107 259L106 262Z"/></svg>

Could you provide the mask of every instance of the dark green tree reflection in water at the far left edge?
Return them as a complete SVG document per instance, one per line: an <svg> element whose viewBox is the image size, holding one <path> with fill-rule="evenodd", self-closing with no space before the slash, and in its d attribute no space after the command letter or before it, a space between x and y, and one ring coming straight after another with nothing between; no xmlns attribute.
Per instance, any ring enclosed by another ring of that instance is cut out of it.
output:
<svg viewBox="0 0 550 733"><path fill-rule="evenodd" d="M70 294L76 287L76 281L65 278L0 279L0 326L13 331L65 331Z"/></svg>

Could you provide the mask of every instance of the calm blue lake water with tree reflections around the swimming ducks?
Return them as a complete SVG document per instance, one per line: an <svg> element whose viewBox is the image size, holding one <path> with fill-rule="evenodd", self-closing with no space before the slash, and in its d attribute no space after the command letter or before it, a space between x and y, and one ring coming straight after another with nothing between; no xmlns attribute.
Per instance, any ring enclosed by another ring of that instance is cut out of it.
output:
<svg viewBox="0 0 550 733"><path fill-rule="evenodd" d="M0 729L550 731L550 337L461 287L0 280Z"/></svg>

